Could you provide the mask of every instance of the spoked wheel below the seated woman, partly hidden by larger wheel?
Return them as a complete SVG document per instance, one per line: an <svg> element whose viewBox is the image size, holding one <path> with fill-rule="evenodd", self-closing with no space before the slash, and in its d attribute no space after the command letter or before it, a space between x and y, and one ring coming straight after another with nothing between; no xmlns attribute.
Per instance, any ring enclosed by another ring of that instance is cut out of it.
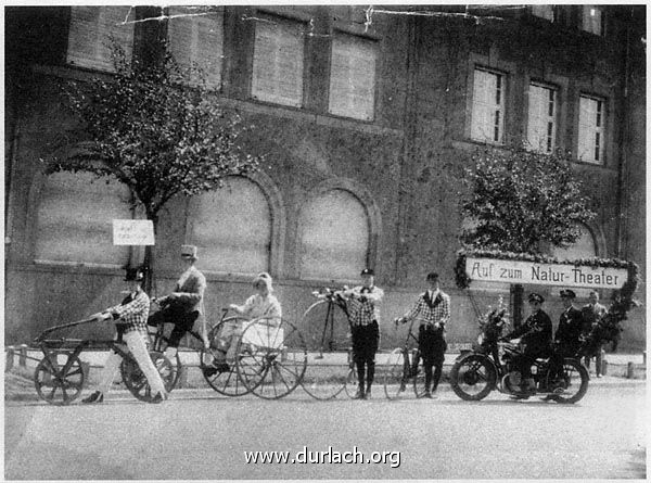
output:
<svg viewBox="0 0 651 483"><path fill-rule="evenodd" d="M234 354L246 319L229 317L220 321L208 333L210 347L201 349L201 371L206 382L225 396L241 396L250 392L238 376ZM231 347L232 356L228 349Z"/></svg>

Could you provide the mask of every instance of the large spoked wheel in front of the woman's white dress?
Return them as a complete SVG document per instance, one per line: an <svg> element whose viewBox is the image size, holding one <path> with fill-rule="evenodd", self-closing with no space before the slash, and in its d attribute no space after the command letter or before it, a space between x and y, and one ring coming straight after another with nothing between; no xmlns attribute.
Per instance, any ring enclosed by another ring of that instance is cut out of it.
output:
<svg viewBox="0 0 651 483"><path fill-rule="evenodd" d="M301 383L307 348L291 322L255 319L242 331L237 358L238 376L246 389L258 397L278 399Z"/></svg>

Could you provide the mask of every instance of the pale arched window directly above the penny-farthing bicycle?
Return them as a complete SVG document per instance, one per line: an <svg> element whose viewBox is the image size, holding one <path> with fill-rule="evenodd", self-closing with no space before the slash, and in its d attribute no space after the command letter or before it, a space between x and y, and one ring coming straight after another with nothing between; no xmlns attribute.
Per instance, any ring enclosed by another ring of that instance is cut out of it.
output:
<svg viewBox="0 0 651 483"><path fill-rule="evenodd" d="M312 199L301 216L301 278L354 280L367 264L369 220L349 191Z"/></svg>

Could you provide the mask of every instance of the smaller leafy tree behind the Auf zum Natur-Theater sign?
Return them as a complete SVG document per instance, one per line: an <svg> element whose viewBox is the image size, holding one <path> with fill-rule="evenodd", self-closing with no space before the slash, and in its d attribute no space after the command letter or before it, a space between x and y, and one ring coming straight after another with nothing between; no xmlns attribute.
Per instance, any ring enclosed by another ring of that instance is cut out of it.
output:
<svg viewBox="0 0 651 483"><path fill-rule="evenodd" d="M576 242L576 224L596 215L567 155L486 148L472 160L474 169L465 176L470 195L461 204L463 217L474 224L461 236L467 245L539 254L540 242L561 247Z"/></svg>

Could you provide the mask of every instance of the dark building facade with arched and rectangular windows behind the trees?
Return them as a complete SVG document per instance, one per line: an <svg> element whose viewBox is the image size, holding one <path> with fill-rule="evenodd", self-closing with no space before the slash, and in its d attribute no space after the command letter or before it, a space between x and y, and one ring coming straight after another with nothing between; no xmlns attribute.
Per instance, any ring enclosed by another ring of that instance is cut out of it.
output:
<svg viewBox="0 0 651 483"><path fill-rule="evenodd" d="M161 217L157 291L179 274L178 247L195 244L213 318L269 271L301 327L312 290L356 283L371 266L390 347L391 320L436 270L452 298L448 339L470 342L473 307L510 292L454 284L463 169L477 148L521 140L571 150L598 213L556 254L631 259L643 280L644 15L643 5L5 9L5 340L111 304L122 267L142 260L141 247L112 245L112 219L142 217L126 187L44 176L40 162L88 141L61 86L110 78L110 36L148 62L167 39L255 126L242 144L265 156L260 173L175 199ZM560 305L548 308L558 320ZM643 320L630 314L621 347L643 347Z"/></svg>

